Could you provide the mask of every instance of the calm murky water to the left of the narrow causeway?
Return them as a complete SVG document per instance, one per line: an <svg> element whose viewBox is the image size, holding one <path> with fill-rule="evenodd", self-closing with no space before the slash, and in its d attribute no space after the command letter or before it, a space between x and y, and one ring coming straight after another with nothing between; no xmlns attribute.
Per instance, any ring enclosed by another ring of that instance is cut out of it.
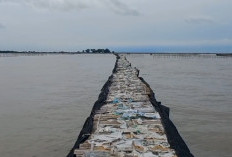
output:
<svg viewBox="0 0 232 157"><path fill-rule="evenodd" d="M0 57L0 156L66 156L115 57L10 56Z"/></svg>

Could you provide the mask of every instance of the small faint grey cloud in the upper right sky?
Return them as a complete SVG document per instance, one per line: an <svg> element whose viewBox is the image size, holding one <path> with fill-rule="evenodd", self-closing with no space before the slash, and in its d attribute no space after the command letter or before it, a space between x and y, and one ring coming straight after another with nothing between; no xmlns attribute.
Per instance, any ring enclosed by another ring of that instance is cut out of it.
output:
<svg viewBox="0 0 232 157"><path fill-rule="evenodd" d="M189 24L212 24L215 21L210 17L189 17L185 19L185 22Z"/></svg>

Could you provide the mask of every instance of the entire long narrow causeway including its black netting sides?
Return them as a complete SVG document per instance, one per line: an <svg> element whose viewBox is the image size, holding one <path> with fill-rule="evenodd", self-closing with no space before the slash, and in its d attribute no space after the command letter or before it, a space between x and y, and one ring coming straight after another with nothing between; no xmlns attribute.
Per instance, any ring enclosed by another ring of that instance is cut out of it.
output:
<svg viewBox="0 0 232 157"><path fill-rule="evenodd" d="M117 55L69 157L192 157L149 85Z"/></svg>

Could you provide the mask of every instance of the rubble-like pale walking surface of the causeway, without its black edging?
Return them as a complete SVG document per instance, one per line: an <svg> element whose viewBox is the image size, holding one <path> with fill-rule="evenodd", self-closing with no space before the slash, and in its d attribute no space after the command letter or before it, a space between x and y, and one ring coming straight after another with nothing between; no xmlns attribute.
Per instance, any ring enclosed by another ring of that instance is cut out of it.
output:
<svg viewBox="0 0 232 157"><path fill-rule="evenodd" d="M170 148L150 90L121 55L105 104L95 112L93 131L77 157L177 157Z"/></svg>

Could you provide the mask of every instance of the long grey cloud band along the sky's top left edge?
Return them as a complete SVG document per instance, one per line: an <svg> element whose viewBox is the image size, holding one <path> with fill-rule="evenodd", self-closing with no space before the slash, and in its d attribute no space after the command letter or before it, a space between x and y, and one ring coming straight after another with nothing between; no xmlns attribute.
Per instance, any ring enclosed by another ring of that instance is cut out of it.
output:
<svg viewBox="0 0 232 157"><path fill-rule="evenodd" d="M36 8L61 11L81 10L103 4L120 15L139 15L137 10L130 8L122 0L0 0L0 3L26 4Z"/></svg>

